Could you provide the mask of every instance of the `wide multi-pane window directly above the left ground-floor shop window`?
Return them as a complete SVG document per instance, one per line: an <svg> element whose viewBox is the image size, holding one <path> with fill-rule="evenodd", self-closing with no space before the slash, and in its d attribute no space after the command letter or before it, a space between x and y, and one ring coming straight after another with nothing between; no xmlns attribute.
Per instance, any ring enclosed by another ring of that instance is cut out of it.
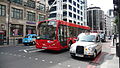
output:
<svg viewBox="0 0 120 68"><path fill-rule="evenodd" d="M23 10L22 9L16 9L12 8L11 9L11 17L15 19L23 19Z"/></svg>

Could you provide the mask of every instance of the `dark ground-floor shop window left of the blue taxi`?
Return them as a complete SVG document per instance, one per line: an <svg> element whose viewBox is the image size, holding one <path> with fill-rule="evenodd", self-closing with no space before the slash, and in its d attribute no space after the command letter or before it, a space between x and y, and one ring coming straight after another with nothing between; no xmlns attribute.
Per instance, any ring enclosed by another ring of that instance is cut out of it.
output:
<svg viewBox="0 0 120 68"><path fill-rule="evenodd" d="M10 27L11 36L23 36L23 25L12 24Z"/></svg>

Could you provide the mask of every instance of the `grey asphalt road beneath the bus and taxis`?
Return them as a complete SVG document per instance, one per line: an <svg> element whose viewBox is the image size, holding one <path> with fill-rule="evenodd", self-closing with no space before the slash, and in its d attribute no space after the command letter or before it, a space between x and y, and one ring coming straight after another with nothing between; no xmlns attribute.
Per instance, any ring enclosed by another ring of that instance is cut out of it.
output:
<svg viewBox="0 0 120 68"><path fill-rule="evenodd" d="M110 41L102 43L103 51L95 59L71 58L69 51L36 49L35 46L0 47L0 68L100 68L110 54Z"/></svg>

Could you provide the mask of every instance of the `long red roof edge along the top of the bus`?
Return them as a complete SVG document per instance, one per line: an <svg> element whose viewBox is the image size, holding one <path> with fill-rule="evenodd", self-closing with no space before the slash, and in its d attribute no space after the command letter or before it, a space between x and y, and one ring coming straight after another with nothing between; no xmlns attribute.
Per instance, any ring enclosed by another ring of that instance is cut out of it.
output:
<svg viewBox="0 0 120 68"><path fill-rule="evenodd" d="M59 24L62 24L62 25L67 25L67 26L77 27L77 28L82 28L82 29L90 29L90 27L88 27L88 26L77 25L77 24L62 21L62 20L52 19L52 20L44 20L44 21L56 21L56 22L60 22ZM44 21L39 21L38 23L41 23L41 22L44 22Z"/></svg>

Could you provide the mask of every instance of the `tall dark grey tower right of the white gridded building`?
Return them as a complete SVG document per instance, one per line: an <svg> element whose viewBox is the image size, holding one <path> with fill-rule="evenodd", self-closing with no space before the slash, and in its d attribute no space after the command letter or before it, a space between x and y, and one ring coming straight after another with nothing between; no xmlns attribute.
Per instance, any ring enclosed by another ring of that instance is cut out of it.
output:
<svg viewBox="0 0 120 68"><path fill-rule="evenodd" d="M100 7L89 7L87 9L87 25L93 31L105 31L104 11Z"/></svg>

